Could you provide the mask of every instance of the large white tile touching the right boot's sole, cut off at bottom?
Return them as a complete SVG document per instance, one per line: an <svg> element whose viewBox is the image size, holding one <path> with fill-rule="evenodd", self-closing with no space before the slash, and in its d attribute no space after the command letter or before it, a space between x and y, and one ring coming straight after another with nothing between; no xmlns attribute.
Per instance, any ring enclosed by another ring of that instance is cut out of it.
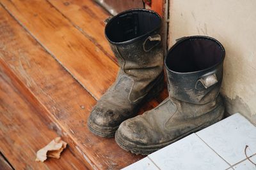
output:
<svg viewBox="0 0 256 170"><path fill-rule="evenodd" d="M151 153L148 157L161 170L215 170L230 167L195 134Z"/></svg>

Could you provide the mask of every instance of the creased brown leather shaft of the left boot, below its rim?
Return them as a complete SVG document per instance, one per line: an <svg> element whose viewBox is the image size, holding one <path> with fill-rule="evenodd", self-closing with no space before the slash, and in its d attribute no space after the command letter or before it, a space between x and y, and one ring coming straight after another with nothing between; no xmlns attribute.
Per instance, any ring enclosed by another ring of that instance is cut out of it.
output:
<svg viewBox="0 0 256 170"><path fill-rule="evenodd" d="M163 72L163 47L155 46L149 52L143 50L140 39L129 45L111 45L120 66L120 74L126 74L134 80L129 101L134 102L147 94L155 80Z"/></svg>

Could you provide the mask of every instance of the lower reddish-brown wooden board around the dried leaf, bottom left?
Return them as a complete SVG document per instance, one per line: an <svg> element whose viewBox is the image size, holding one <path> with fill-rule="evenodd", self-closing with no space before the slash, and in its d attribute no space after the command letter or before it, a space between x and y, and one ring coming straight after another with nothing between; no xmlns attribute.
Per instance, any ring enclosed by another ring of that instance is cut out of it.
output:
<svg viewBox="0 0 256 170"><path fill-rule="evenodd" d="M2 74L3 76L3 74ZM36 110L0 76L0 150L15 169L88 169L67 147L60 159L36 162L36 151L58 134L47 127ZM0 169L12 169L0 159Z"/></svg>

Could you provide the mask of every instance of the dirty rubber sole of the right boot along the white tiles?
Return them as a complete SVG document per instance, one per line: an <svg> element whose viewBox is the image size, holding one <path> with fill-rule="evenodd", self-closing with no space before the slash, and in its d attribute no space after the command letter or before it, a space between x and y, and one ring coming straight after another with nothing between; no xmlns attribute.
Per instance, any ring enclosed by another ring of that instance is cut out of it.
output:
<svg viewBox="0 0 256 170"><path fill-rule="evenodd" d="M127 143L127 142L125 143L125 141L118 138L116 134L115 134L115 141L121 148L123 148L127 152L131 152L131 153L134 153L136 155L149 155L150 153L156 152L157 150L159 150L161 148L164 148L165 146L168 146L168 145L174 143L175 141L178 141L179 139L182 139L182 138L188 136L189 134L200 131L201 129L204 129L205 127L208 127L209 125L212 125L212 124L215 124L216 122L219 122L223 118L223 115L224 115L224 110L223 110L223 113L221 113L220 116L218 118L216 118L214 121L207 122L203 125L200 125L196 129L192 129L191 131L186 132L182 136L179 136L178 138L175 138L172 141L168 141L166 143L161 143L159 145L148 145L148 146L136 145L136 148L135 148L134 145L129 145L129 143Z"/></svg>

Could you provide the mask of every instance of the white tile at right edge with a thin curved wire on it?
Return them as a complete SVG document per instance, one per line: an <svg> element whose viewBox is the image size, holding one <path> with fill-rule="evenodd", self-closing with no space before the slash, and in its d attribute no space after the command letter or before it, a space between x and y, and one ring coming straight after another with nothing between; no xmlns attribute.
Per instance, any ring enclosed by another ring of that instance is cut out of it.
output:
<svg viewBox="0 0 256 170"><path fill-rule="evenodd" d="M196 134L231 165L246 158L246 145L248 156L256 153L256 127L239 113Z"/></svg>

